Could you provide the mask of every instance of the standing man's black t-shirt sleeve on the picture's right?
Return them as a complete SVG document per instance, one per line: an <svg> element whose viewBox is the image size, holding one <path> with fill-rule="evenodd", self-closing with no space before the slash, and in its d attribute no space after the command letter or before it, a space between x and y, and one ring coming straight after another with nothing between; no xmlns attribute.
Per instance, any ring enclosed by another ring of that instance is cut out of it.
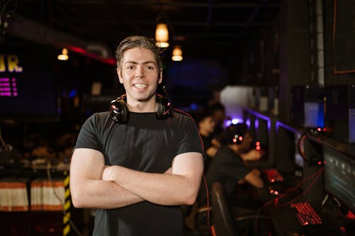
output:
<svg viewBox="0 0 355 236"><path fill-rule="evenodd" d="M181 137L177 142L177 154L182 154L185 152L200 152L203 154L202 150L202 140L200 138L199 132L195 122L186 116L186 119L180 127Z"/></svg>

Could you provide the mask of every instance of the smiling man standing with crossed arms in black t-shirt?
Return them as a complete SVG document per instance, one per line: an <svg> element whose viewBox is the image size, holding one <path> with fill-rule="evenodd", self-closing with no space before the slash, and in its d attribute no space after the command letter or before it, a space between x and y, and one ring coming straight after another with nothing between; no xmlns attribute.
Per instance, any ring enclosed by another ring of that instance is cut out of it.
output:
<svg viewBox="0 0 355 236"><path fill-rule="evenodd" d="M95 113L80 130L70 191L75 207L96 208L93 235L182 235L180 205L197 197L203 160L195 123L178 112L156 117L160 53L151 38L124 39L116 59L126 90L121 113L129 114L120 122Z"/></svg>

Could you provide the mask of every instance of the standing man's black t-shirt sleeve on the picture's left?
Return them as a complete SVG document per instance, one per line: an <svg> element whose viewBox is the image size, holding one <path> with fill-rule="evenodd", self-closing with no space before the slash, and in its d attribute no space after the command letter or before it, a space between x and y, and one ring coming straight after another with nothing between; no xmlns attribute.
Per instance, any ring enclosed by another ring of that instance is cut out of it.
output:
<svg viewBox="0 0 355 236"><path fill-rule="evenodd" d="M77 137L77 142L74 149L77 148L91 148L104 153L102 142L99 141L97 132L97 114L94 114L87 118L87 120L82 125L80 133Z"/></svg>

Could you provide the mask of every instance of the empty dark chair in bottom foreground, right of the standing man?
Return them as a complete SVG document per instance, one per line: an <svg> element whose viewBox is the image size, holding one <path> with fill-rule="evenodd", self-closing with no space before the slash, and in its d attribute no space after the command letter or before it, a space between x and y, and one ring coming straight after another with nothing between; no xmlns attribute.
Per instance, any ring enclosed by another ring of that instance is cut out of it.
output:
<svg viewBox="0 0 355 236"><path fill-rule="evenodd" d="M267 219L262 215L258 215L253 210L243 210L245 214L241 214L242 208L231 208L226 200L226 192L224 186L220 182L214 182L212 185L212 217L214 236L239 236L239 235L261 235L261 232L250 232L249 229L241 227L241 221L248 220L250 225L258 228L259 219ZM269 222L267 222L269 225ZM266 231L268 232L268 228ZM258 230L256 230L258 231Z"/></svg>

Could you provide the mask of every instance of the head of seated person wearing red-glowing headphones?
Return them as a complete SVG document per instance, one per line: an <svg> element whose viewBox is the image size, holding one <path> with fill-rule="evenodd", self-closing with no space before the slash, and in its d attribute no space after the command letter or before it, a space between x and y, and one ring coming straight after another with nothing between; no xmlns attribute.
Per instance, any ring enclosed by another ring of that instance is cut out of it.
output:
<svg viewBox="0 0 355 236"><path fill-rule="evenodd" d="M249 132L249 128L244 123L229 125L224 130L224 140L228 145L238 145L240 152L249 150L253 138Z"/></svg>

